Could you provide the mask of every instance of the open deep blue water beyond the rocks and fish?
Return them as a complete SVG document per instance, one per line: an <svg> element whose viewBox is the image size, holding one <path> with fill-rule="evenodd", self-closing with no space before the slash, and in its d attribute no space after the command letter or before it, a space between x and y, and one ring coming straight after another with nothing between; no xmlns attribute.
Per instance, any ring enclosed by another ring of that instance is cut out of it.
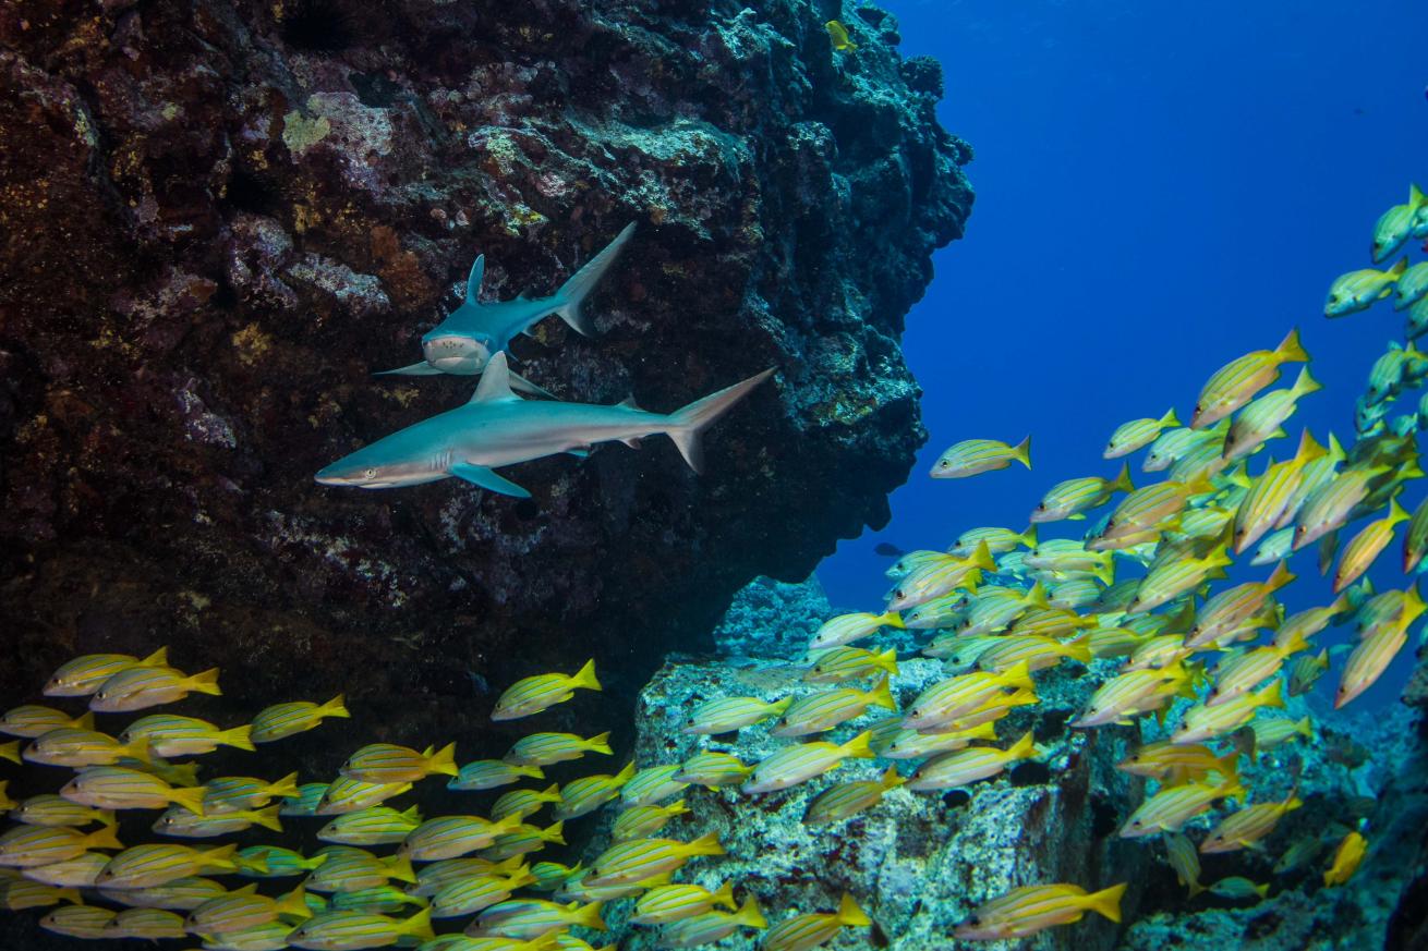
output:
<svg viewBox="0 0 1428 951"><path fill-rule="evenodd" d="M1374 221L1407 200L1409 180L1428 184L1428 4L881 6L901 21L904 56L944 66L938 114L977 150L977 204L967 237L937 256L902 341L931 441L892 495L888 527L818 568L840 605L881 604L878 543L944 547L975 525L1020 530L1051 484L1114 474L1101 448L1117 424L1188 413L1214 370L1292 326L1325 384L1301 403L1294 433L1352 434L1354 398L1402 320L1379 304L1328 321L1324 293L1369 266ZM1034 471L927 477L958 440L1027 433ZM1262 466L1257 457L1251 471ZM1404 504L1425 490L1411 483ZM1395 540L1379 587L1402 584L1398 558ZM1328 601L1308 577L1312 553L1291 567L1305 575L1284 593L1291 611ZM1235 578L1261 573L1248 571ZM1409 654L1357 704L1397 695Z"/></svg>

